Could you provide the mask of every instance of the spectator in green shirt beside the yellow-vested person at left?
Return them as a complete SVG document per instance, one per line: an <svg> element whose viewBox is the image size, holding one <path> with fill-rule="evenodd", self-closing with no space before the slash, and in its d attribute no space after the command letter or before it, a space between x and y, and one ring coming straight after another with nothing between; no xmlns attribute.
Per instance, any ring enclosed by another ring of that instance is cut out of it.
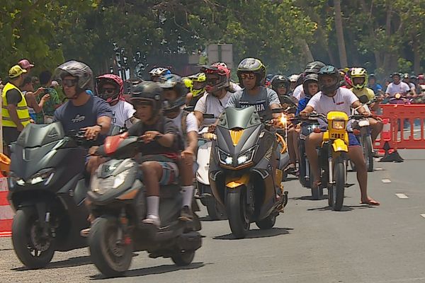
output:
<svg viewBox="0 0 425 283"><path fill-rule="evenodd" d="M40 79L44 93L49 94L50 99L44 103L42 112L37 114L37 123L50 124L53 122L53 115L55 115L55 110L61 105L61 102L55 88L50 87L52 84L52 72L42 71L38 79Z"/></svg>

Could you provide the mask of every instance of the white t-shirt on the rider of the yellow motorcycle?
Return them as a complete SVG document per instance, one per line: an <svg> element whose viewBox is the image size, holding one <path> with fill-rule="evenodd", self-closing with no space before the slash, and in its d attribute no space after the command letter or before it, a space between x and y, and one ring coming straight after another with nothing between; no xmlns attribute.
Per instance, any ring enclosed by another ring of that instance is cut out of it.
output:
<svg viewBox="0 0 425 283"><path fill-rule="evenodd" d="M325 96L322 91L315 94L307 103L314 111L327 115L331 111L345 112L351 115L351 105L358 100L357 96L347 88L338 88L333 97ZM318 119L320 126L326 126L326 123Z"/></svg>

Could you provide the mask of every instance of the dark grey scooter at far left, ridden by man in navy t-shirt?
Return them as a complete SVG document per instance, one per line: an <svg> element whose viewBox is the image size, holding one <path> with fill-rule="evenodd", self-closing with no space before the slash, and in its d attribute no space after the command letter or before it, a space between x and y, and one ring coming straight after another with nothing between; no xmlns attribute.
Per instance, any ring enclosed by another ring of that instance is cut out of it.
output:
<svg viewBox="0 0 425 283"><path fill-rule="evenodd" d="M56 250L86 246L84 132L65 134L60 122L30 124L11 145L8 201L14 212L12 243L31 269L45 267Z"/></svg>

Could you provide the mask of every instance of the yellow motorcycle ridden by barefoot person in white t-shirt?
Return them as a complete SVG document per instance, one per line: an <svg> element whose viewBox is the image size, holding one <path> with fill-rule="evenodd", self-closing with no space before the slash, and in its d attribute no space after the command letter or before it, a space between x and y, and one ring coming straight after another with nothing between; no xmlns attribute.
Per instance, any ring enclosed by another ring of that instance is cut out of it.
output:
<svg viewBox="0 0 425 283"><path fill-rule="evenodd" d="M327 122L327 129L314 129L324 132L322 146L319 148L319 172L321 185L318 190L328 189L329 207L339 211L344 204L344 190L353 184L347 184L348 161L348 120L358 120L362 115L346 115L344 112L331 111L327 115L310 113L308 117L317 117Z"/></svg>

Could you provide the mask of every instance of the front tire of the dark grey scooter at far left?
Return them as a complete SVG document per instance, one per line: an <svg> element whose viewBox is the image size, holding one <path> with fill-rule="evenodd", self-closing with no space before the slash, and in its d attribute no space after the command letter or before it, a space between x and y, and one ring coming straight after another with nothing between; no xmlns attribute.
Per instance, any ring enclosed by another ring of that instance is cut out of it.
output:
<svg viewBox="0 0 425 283"><path fill-rule="evenodd" d="M47 241L43 239L43 244L47 246L47 248L43 248L42 250L35 248L35 246L38 246L40 243L34 243L34 240L36 240L34 237L42 230L42 227L37 225L37 223L37 212L35 209L28 207L18 209L13 217L13 249L18 259L30 269L45 267L55 254L54 238L49 238Z"/></svg>

